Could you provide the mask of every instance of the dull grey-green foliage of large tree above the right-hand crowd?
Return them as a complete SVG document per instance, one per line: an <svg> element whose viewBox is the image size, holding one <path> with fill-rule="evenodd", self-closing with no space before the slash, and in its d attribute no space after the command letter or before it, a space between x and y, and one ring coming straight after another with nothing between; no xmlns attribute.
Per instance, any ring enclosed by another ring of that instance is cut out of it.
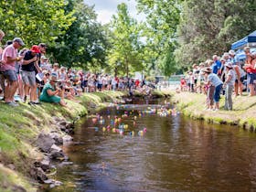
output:
<svg viewBox="0 0 256 192"><path fill-rule="evenodd" d="M255 7L253 0L184 1L176 61L189 66L228 51L231 43L255 30Z"/></svg>

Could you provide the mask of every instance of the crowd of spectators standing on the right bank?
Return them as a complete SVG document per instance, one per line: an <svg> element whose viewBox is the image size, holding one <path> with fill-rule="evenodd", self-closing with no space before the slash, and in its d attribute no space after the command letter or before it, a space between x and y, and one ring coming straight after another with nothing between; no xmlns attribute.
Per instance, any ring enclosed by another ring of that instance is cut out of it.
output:
<svg viewBox="0 0 256 192"><path fill-rule="evenodd" d="M207 110L218 111L220 95L225 95L224 110L232 110L232 95L255 95L256 52L250 47L244 48L246 59L236 57L234 50L225 52L222 57L214 55L212 59L194 64L180 80L178 91L191 91L207 95Z"/></svg>

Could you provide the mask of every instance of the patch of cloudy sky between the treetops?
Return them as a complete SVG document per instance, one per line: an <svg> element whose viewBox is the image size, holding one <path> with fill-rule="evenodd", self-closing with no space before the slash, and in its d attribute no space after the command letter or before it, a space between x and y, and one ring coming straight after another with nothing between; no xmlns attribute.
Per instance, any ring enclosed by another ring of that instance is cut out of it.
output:
<svg viewBox="0 0 256 192"><path fill-rule="evenodd" d="M141 21L144 16L137 15L135 0L84 0L87 5L95 5L94 10L98 15L98 21L101 24L109 23L112 15L117 13L117 5L125 3L128 6L129 15Z"/></svg>

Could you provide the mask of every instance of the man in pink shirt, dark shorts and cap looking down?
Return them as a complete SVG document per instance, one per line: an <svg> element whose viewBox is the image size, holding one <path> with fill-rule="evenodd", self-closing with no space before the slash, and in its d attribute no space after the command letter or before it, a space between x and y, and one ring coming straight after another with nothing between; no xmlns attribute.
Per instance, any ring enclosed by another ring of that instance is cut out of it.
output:
<svg viewBox="0 0 256 192"><path fill-rule="evenodd" d="M23 59L23 57L17 57L17 49L24 45L23 40L20 37L16 37L14 38L12 45L5 48L2 55L2 60L4 60L3 71L8 80L5 89L5 102L10 106L18 106L14 101L14 95L18 86L15 64L16 61Z"/></svg>

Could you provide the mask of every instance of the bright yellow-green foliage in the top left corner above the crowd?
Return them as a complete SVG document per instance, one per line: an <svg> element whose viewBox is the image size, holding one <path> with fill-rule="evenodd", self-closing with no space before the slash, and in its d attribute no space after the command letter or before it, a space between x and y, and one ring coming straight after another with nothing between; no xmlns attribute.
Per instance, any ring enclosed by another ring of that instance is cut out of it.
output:
<svg viewBox="0 0 256 192"><path fill-rule="evenodd" d="M65 5L64 0L0 1L0 26L5 39L22 37L27 46L54 44L75 19L72 12L65 14Z"/></svg>

